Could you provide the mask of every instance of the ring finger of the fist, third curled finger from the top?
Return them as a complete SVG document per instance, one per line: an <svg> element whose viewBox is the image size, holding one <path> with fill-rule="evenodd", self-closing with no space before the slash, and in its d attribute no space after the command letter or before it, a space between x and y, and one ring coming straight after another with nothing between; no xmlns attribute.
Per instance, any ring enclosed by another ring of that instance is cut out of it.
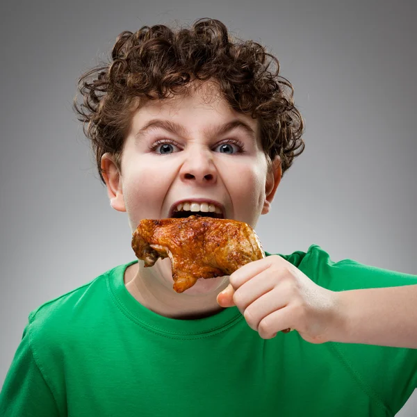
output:
<svg viewBox="0 0 417 417"><path fill-rule="evenodd" d="M243 312L243 316L250 328L258 332L259 324L263 318L284 308L288 301L286 293L281 291L281 288L276 287L252 302Z"/></svg>

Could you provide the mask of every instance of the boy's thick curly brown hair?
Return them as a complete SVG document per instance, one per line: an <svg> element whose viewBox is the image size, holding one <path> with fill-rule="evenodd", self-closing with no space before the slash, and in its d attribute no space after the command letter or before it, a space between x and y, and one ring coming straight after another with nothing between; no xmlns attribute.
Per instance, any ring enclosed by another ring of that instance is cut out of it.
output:
<svg viewBox="0 0 417 417"><path fill-rule="evenodd" d="M293 85L279 75L279 61L265 47L236 38L217 19L198 19L190 28L142 26L120 33L111 62L78 81L73 108L103 183L101 156L110 152L122 172L124 139L140 103L184 95L193 81L215 81L231 108L259 120L268 165L279 155L282 176L304 151L304 122L294 106Z"/></svg>

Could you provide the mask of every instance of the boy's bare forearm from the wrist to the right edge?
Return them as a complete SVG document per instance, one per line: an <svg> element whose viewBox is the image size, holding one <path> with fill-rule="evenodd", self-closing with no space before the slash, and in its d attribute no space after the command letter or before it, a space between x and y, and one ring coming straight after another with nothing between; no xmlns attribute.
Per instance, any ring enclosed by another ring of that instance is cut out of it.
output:
<svg viewBox="0 0 417 417"><path fill-rule="evenodd" d="M331 341L417 349L417 285L336 293Z"/></svg>

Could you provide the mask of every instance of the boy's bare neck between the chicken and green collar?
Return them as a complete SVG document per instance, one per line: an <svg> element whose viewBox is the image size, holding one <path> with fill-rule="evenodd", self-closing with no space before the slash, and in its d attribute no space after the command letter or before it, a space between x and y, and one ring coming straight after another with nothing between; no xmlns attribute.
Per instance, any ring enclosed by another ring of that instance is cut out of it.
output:
<svg viewBox="0 0 417 417"><path fill-rule="evenodd" d="M158 263L152 268L144 268L139 261L130 265L124 274L126 289L142 306L161 316L181 320L213 316L224 309L216 297L229 284L228 277L213 278L209 283L199 279L195 284L197 288L179 294L172 288L170 260L158 260ZM198 293L207 286L208 292Z"/></svg>

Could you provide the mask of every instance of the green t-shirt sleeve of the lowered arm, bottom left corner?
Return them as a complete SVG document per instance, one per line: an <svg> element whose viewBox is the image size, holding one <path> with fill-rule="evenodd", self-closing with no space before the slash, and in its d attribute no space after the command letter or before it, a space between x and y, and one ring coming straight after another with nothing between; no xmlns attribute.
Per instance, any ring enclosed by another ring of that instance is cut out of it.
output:
<svg viewBox="0 0 417 417"><path fill-rule="evenodd" d="M35 361L26 325L0 393L2 417L59 416L54 395Z"/></svg>

